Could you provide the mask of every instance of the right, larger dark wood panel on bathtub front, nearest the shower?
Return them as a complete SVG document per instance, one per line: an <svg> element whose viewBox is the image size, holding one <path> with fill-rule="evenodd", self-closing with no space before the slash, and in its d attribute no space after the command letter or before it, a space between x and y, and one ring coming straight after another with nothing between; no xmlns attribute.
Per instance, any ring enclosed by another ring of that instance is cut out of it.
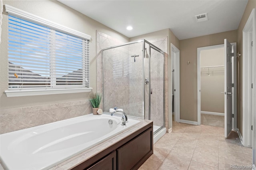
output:
<svg viewBox="0 0 256 170"><path fill-rule="evenodd" d="M153 153L152 128L117 149L118 170L138 169ZM144 161L142 161L144 160Z"/></svg>

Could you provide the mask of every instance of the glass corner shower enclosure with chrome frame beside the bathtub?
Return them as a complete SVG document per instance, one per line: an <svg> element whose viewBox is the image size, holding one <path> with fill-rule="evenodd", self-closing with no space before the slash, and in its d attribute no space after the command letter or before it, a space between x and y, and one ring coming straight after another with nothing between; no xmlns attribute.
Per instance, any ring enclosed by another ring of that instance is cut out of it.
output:
<svg viewBox="0 0 256 170"><path fill-rule="evenodd" d="M102 50L103 109L118 107L130 117L164 128L164 51L146 40Z"/></svg>

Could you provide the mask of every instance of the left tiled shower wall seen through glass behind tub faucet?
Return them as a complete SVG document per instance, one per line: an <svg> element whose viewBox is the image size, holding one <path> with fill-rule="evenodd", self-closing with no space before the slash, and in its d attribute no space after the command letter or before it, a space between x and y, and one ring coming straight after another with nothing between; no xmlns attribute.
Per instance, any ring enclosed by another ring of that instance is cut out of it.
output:
<svg viewBox="0 0 256 170"><path fill-rule="evenodd" d="M130 115L130 62L127 46L104 51L104 111L118 107Z"/></svg>

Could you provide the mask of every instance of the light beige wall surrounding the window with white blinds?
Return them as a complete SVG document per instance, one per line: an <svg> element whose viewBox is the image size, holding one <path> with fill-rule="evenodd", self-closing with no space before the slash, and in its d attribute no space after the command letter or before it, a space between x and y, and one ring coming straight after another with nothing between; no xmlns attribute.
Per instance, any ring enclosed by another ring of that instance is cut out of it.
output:
<svg viewBox="0 0 256 170"><path fill-rule="evenodd" d="M129 42L129 38L114 30L88 18L87 16L61 4L58 1L3 1L3 4L19 8L42 18L51 20L63 26L78 30L91 36L90 40L90 87L96 91L96 30L104 32L122 42ZM88 93L42 95L33 97L6 97L4 91L8 90L8 14L3 12L2 35L0 45L0 109L28 107L49 103L78 101L88 99Z"/></svg>

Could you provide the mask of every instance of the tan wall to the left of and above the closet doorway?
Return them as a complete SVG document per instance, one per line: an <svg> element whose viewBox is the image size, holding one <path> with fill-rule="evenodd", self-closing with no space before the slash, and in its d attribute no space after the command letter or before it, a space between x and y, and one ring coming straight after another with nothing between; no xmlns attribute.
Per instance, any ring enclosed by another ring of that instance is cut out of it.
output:
<svg viewBox="0 0 256 170"><path fill-rule="evenodd" d="M237 31L180 40L180 119L197 122L197 48L237 41ZM188 64L190 61L190 64Z"/></svg>

